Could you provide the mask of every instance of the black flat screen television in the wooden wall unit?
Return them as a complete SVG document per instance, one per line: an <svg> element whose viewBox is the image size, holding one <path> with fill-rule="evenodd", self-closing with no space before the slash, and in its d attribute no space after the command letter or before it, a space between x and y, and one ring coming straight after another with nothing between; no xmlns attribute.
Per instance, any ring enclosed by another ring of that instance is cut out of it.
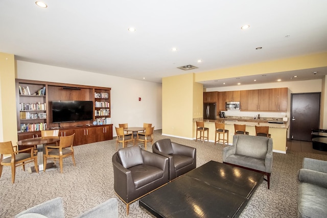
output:
<svg viewBox="0 0 327 218"><path fill-rule="evenodd" d="M92 101L53 101L52 123L93 120Z"/></svg>

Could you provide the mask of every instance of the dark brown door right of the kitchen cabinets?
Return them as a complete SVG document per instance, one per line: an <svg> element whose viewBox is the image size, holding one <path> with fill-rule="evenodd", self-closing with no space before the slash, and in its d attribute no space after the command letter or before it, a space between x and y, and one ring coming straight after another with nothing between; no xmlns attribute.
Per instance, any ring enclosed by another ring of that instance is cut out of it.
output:
<svg viewBox="0 0 327 218"><path fill-rule="evenodd" d="M319 128L320 92L291 94L290 138L311 141L311 129Z"/></svg>

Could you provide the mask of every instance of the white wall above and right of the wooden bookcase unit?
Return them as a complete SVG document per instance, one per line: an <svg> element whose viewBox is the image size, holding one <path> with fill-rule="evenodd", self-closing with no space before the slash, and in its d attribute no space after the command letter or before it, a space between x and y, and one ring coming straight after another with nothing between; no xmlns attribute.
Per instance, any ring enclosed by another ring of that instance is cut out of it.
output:
<svg viewBox="0 0 327 218"><path fill-rule="evenodd" d="M26 61L17 61L17 79L110 87L113 136L120 123L129 127L151 123L155 130L162 128L161 84Z"/></svg>

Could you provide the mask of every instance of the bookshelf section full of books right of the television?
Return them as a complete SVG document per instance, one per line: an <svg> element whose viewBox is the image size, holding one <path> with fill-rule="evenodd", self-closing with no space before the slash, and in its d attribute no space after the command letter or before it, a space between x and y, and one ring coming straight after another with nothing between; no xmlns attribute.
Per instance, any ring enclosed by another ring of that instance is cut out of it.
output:
<svg viewBox="0 0 327 218"><path fill-rule="evenodd" d="M99 124L111 124L110 92L109 90L95 89L95 121Z"/></svg>

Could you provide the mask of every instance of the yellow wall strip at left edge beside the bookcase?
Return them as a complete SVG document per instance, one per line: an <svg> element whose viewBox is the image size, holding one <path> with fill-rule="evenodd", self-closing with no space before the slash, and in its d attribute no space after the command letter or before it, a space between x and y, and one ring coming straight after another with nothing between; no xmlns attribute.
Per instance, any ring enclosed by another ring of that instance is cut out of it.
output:
<svg viewBox="0 0 327 218"><path fill-rule="evenodd" d="M0 53L0 141L17 142L14 55Z"/></svg>

